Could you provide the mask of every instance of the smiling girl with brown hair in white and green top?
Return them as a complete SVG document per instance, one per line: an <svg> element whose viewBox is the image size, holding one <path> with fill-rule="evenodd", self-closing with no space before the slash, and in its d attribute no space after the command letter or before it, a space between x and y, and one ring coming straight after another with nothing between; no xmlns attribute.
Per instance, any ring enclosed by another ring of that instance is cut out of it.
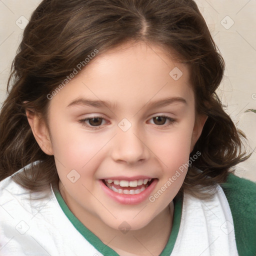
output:
<svg viewBox="0 0 256 256"><path fill-rule="evenodd" d="M255 255L255 184L193 0L43 0L0 113L1 255Z"/></svg>

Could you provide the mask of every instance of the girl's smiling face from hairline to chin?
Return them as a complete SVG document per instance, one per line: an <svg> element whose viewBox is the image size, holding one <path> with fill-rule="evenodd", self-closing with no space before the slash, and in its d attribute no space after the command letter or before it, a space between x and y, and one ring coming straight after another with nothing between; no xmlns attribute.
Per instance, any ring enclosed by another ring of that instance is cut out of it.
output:
<svg viewBox="0 0 256 256"><path fill-rule="evenodd" d="M204 119L195 125L188 66L161 47L127 44L90 61L50 100L41 148L80 220L138 229L178 192Z"/></svg>

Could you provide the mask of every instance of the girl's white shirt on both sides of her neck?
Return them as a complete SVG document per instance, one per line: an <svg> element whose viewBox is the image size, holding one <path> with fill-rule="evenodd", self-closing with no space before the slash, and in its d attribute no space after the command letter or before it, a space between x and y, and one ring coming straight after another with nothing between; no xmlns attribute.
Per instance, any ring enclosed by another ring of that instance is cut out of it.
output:
<svg viewBox="0 0 256 256"><path fill-rule="evenodd" d="M45 197L35 199L42 195ZM1 256L118 255L75 221L73 224L64 213L52 188L29 194L10 177L0 182ZM204 201L184 193L176 227L178 234L168 255L238 256L231 211L219 185L214 197Z"/></svg>

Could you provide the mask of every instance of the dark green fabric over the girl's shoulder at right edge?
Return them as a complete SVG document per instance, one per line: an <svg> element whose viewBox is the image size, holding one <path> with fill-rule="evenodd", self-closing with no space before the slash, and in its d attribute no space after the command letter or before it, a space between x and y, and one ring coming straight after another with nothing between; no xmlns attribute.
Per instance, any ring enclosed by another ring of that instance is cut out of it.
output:
<svg viewBox="0 0 256 256"><path fill-rule="evenodd" d="M229 173L221 183L227 198L239 255L256 254L256 183Z"/></svg>

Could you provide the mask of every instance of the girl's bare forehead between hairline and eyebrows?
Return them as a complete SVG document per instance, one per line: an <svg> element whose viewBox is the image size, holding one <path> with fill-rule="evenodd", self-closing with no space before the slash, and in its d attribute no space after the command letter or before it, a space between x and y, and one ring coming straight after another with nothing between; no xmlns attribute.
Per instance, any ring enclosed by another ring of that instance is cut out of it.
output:
<svg viewBox="0 0 256 256"><path fill-rule="evenodd" d="M193 104L189 75L187 64L172 59L163 47L127 43L99 51L51 103L69 104L83 96L123 108L163 97L183 97Z"/></svg>

